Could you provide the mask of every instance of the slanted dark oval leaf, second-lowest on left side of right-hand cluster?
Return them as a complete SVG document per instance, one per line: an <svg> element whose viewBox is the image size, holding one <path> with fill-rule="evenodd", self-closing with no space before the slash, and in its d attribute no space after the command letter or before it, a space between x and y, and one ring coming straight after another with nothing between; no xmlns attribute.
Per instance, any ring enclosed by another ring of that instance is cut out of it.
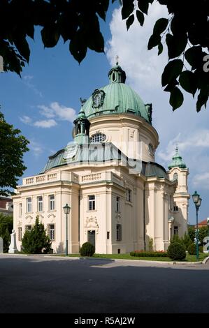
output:
<svg viewBox="0 0 209 328"><path fill-rule="evenodd" d="M172 80L176 79L178 75L180 75L183 65L184 64L181 59L174 59L173 61L168 62L161 76L162 87L169 84Z"/></svg>

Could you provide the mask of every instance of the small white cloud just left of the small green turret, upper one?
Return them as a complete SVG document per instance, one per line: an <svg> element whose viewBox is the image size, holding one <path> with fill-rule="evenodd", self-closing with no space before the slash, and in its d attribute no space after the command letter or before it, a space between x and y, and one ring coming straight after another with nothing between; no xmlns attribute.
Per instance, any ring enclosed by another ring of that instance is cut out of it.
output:
<svg viewBox="0 0 209 328"><path fill-rule="evenodd" d="M73 108L60 105L57 102L51 103L49 107L45 105L38 105L38 108L41 110L41 115L47 117L48 119L56 117L62 121L70 121L73 123L76 118L76 112Z"/></svg>

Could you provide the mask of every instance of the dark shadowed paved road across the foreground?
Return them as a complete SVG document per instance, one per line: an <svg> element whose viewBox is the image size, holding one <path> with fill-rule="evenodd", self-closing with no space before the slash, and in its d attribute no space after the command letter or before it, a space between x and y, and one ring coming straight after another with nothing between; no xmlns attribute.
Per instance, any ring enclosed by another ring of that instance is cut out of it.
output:
<svg viewBox="0 0 209 328"><path fill-rule="evenodd" d="M208 264L0 255L0 313L209 313Z"/></svg>

